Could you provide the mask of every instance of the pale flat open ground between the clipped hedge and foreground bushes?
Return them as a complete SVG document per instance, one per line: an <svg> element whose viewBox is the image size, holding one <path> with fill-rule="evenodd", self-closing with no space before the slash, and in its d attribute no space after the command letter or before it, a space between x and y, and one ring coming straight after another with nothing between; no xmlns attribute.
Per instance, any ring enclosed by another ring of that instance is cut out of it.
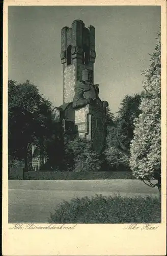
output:
<svg viewBox="0 0 167 256"><path fill-rule="evenodd" d="M64 200L94 197L158 197L158 189L139 180L9 180L9 223L48 223ZM155 206L156 207L156 206Z"/></svg>

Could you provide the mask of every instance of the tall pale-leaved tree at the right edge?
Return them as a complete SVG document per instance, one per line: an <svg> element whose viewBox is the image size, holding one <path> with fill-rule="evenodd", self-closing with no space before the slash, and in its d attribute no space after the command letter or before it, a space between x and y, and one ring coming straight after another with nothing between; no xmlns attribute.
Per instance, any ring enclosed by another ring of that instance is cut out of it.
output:
<svg viewBox="0 0 167 256"><path fill-rule="evenodd" d="M161 188L161 42L151 55L151 63L143 74L141 114L135 120L134 139L130 147L130 167L134 177ZM157 180L153 184L153 180Z"/></svg>

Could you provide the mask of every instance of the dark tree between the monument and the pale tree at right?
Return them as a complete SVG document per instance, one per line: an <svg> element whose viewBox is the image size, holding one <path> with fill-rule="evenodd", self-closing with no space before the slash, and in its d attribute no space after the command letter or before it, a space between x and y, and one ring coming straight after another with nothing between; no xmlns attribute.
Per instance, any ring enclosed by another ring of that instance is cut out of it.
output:
<svg viewBox="0 0 167 256"><path fill-rule="evenodd" d="M115 170L130 170L129 149L133 139L133 120L140 114L138 106L141 95L125 96L121 102L117 116L112 116L112 124L107 126L106 159Z"/></svg>

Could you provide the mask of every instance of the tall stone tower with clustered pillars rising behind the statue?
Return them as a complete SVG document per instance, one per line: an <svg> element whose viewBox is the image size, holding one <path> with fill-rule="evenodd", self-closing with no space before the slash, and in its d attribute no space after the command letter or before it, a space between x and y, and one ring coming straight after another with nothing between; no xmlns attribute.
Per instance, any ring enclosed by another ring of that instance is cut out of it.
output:
<svg viewBox="0 0 167 256"><path fill-rule="evenodd" d="M82 70L89 69L93 73L95 58L93 26L86 28L82 20L77 19L74 20L71 28L62 28L63 103L73 101L75 84L78 80L82 80Z"/></svg>

